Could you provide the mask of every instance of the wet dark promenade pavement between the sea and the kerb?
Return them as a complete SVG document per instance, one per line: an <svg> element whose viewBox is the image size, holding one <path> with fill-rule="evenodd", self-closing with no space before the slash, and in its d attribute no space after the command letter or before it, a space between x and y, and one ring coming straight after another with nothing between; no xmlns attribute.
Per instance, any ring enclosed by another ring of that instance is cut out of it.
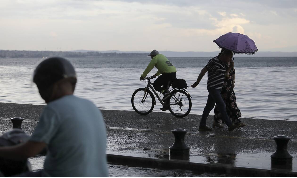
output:
<svg viewBox="0 0 297 178"><path fill-rule="evenodd" d="M9 118L23 117L23 129L34 131L44 106L0 103L0 133L12 127ZM273 136L286 135L291 140L288 151L293 156L293 170L297 171L297 122L241 118L247 126L228 132L227 127L199 131L200 115L176 118L166 112L152 112L142 116L131 111L101 110L108 135L110 153L169 159L174 137L171 130L188 130L185 142L190 147L190 162L226 164L249 168L271 169L270 155L276 149ZM211 127L213 116L207 125ZM143 150L144 148L148 148Z"/></svg>

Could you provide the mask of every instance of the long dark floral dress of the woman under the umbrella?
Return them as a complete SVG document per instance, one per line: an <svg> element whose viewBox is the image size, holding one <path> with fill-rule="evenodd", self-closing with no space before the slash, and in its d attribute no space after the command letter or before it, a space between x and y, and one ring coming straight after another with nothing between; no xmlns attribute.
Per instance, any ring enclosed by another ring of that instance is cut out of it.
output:
<svg viewBox="0 0 297 178"><path fill-rule="evenodd" d="M229 65L230 63L228 63L227 67L229 67ZM241 112L237 107L235 93L232 88L233 74L235 74L234 67L230 70L230 77L228 79L225 78L221 96L226 104L226 111L228 116L230 117L233 124L237 124L240 123L238 117L241 117ZM214 107L214 120L218 123L225 123L224 121L222 121L222 115L219 112L217 105Z"/></svg>

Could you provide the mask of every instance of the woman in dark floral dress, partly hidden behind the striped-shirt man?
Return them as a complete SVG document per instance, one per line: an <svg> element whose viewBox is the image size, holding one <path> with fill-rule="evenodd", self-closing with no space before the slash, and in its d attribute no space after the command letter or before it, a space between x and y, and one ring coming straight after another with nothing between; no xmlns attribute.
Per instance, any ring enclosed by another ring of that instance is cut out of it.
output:
<svg viewBox="0 0 297 178"><path fill-rule="evenodd" d="M225 49L222 49L222 52ZM221 53L222 53L221 52ZM219 55L221 54L219 53ZM241 117L241 112L237 107L236 104L236 97L233 88L235 87L235 69L234 69L234 62L229 61L227 64L227 70L225 73L225 81L222 87L221 96L226 104L226 112L230 117L232 123L234 125L239 125L238 127L244 127L246 124L242 123L238 117ZM225 123L222 119L222 114L219 111L218 106L214 107L214 122L212 124L212 128L224 128L219 123Z"/></svg>

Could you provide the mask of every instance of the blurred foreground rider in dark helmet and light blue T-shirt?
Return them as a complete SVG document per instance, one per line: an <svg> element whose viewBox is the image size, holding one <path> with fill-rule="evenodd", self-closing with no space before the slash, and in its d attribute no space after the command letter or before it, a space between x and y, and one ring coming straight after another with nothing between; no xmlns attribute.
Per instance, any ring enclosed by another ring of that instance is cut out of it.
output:
<svg viewBox="0 0 297 178"><path fill-rule="evenodd" d="M34 71L45 106L29 141L0 147L12 160L34 157L47 148L44 169L18 177L107 177L106 131L101 112L91 102L73 95L76 74L64 58L42 61Z"/></svg>

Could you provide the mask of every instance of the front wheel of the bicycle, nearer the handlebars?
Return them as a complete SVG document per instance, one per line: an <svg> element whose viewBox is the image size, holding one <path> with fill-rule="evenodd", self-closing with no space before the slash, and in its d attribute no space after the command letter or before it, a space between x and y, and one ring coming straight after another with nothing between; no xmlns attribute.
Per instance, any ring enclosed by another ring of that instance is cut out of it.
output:
<svg viewBox="0 0 297 178"><path fill-rule="evenodd" d="M132 107L140 115L147 115L154 109L154 95L150 90L138 88L132 94Z"/></svg>

